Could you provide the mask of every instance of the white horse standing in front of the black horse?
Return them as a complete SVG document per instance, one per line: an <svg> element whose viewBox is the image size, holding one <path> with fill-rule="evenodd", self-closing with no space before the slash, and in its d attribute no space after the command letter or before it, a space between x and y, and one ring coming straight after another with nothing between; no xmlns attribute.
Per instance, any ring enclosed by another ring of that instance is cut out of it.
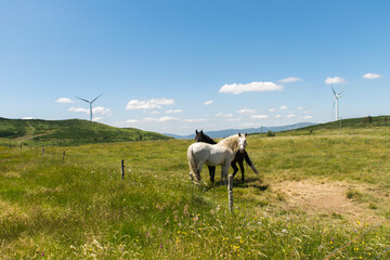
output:
<svg viewBox="0 0 390 260"><path fill-rule="evenodd" d="M190 165L190 177L197 182L200 181L200 171L204 165L222 166L221 182L226 184L229 168L234 159L234 155L239 150L245 152L247 134L234 134L221 140L217 144L193 143L187 150Z"/></svg>

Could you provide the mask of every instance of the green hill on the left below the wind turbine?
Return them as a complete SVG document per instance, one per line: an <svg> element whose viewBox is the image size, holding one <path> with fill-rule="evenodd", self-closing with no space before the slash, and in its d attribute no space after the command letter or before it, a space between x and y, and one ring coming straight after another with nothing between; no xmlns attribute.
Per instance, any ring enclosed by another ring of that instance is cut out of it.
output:
<svg viewBox="0 0 390 260"><path fill-rule="evenodd" d="M166 140L166 135L134 128L115 128L87 120L6 119L0 117L0 143L28 145L79 145L141 140Z"/></svg>

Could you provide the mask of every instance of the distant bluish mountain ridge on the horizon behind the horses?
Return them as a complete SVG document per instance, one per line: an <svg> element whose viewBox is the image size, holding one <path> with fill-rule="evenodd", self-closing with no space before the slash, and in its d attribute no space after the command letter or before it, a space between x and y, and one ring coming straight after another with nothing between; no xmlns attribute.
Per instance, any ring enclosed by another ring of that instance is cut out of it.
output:
<svg viewBox="0 0 390 260"><path fill-rule="evenodd" d="M288 131L288 130L294 130L294 129L299 129L299 128L304 128L304 127L310 127L315 125L314 122L299 122L299 123L294 123L294 125L288 125L288 126L282 126L282 127L262 127L262 129L260 128L246 128L246 129L225 129L225 130L220 130L220 131L207 131L205 129L197 129L197 130L204 130L204 132L209 135L210 138L226 138L233 134L236 134L238 132L242 133L259 133L261 130L263 133L268 132L269 130L271 130L272 132L282 132L282 131ZM174 139L194 139L195 138L195 129L194 129L194 133L193 134L188 134L188 135L178 135L178 134L171 134L171 133L164 133L167 136L171 136Z"/></svg>

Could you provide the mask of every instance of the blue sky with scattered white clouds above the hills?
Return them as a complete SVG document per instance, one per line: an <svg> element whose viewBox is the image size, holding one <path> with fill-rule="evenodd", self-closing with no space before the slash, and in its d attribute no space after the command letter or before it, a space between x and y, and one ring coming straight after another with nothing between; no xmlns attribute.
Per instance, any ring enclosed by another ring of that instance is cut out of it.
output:
<svg viewBox="0 0 390 260"><path fill-rule="evenodd" d="M3 1L0 117L190 134L389 115L390 1Z"/></svg>

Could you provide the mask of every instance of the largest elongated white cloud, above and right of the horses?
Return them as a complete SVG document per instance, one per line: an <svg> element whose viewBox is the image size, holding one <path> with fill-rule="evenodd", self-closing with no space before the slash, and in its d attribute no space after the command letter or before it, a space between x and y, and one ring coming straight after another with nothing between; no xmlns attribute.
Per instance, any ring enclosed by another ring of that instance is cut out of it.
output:
<svg viewBox="0 0 390 260"><path fill-rule="evenodd" d="M280 91L283 90L283 86L276 84L274 82L265 81L265 82L251 82L251 83L233 83L233 84L224 84L219 92L220 93L233 93L240 94L243 92L268 92L268 91Z"/></svg>

